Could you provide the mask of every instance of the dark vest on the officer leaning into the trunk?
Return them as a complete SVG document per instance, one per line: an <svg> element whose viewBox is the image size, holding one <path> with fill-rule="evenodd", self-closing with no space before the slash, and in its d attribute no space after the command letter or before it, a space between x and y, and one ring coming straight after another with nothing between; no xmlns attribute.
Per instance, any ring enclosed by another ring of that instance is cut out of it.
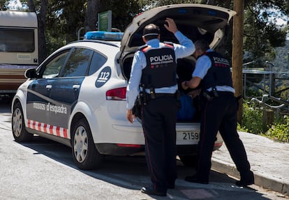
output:
<svg viewBox="0 0 289 200"><path fill-rule="evenodd" d="M217 52L205 52L205 55L211 60L212 67L209 68L207 75L202 79L202 90L214 86L232 87L232 74L229 61Z"/></svg>

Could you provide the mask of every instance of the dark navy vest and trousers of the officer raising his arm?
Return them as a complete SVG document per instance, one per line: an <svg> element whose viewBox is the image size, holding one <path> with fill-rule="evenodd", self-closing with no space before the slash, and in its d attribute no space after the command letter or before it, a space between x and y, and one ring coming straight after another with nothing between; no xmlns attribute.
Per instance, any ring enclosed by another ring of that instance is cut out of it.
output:
<svg viewBox="0 0 289 200"><path fill-rule="evenodd" d="M146 141L145 153L154 189L166 192L175 187L176 131L178 103L175 93L155 93L155 89L177 84L177 63L173 46L149 46L141 49L147 59L140 84L152 90L142 109L142 128Z"/></svg>

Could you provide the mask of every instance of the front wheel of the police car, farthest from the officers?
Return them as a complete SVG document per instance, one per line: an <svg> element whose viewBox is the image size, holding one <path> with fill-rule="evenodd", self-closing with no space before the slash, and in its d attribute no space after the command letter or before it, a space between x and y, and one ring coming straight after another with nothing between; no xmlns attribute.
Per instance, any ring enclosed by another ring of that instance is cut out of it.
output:
<svg viewBox="0 0 289 200"><path fill-rule="evenodd" d="M27 132L24 123L24 115L20 102L16 102L13 107L12 114L12 132L15 141L30 141L33 139L34 134Z"/></svg>

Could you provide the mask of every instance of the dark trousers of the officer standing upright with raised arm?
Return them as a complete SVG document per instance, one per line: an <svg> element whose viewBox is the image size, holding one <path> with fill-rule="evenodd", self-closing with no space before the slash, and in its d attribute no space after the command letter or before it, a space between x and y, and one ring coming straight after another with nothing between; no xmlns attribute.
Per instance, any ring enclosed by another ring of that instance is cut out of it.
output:
<svg viewBox="0 0 289 200"><path fill-rule="evenodd" d="M175 185L177 99L162 96L149 100L142 110L142 128L145 138L145 155L154 189L167 192Z"/></svg>

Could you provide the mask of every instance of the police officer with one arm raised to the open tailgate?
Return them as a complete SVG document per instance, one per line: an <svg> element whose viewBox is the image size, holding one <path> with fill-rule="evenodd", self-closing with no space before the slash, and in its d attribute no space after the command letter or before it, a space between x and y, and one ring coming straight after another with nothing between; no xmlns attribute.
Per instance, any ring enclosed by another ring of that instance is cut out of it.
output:
<svg viewBox="0 0 289 200"><path fill-rule="evenodd" d="M131 77L126 90L126 118L133 123L133 105L140 92L146 96L142 105L142 128L145 139L147 167L151 186L141 192L166 196L168 188L175 187L176 131L178 102L176 98L176 70L178 58L193 54L193 42L178 31L175 21L166 18L165 28L174 33L179 44L160 43L160 31L155 24L143 29L144 47L135 52Z"/></svg>

